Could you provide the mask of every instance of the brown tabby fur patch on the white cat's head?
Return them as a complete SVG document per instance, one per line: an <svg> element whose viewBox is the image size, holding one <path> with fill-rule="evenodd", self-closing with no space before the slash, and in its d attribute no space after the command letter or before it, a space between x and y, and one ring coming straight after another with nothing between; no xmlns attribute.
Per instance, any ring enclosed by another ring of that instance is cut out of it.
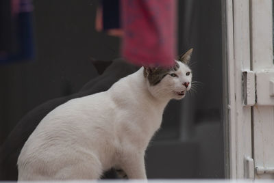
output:
<svg viewBox="0 0 274 183"><path fill-rule="evenodd" d="M145 78L148 79L149 84L151 86L155 86L158 83L162 81L164 76L169 74L171 70L178 70L179 64L175 61L175 65L171 68L163 68L163 67L155 67L155 68L150 68L147 66L144 66L144 76Z"/></svg>

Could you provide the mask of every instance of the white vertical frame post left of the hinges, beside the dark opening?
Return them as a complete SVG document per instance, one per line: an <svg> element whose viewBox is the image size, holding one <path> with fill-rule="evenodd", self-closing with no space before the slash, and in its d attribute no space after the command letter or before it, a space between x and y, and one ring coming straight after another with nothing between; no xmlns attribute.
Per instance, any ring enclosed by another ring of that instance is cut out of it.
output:
<svg viewBox="0 0 274 183"><path fill-rule="evenodd" d="M230 177L242 179L245 177L244 158L252 156L251 107L244 107L242 100L242 70L251 68L249 0L227 0L227 40L231 109L229 113Z"/></svg>

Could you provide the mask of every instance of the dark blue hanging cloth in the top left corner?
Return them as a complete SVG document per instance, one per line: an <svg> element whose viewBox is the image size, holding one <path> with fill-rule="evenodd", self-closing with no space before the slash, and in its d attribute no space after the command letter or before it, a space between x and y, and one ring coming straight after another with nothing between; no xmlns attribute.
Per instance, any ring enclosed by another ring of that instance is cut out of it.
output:
<svg viewBox="0 0 274 183"><path fill-rule="evenodd" d="M34 59L31 0L0 2L0 64Z"/></svg>

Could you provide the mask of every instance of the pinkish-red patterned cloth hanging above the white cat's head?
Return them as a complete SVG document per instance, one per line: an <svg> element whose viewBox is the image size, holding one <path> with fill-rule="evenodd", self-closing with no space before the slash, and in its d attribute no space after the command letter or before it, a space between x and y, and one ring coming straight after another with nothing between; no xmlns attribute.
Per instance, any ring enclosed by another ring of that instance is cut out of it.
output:
<svg viewBox="0 0 274 183"><path fill-rule="evenodd" d="M121 0L122 56L139 66L172 66L176 0Z"/></svg>

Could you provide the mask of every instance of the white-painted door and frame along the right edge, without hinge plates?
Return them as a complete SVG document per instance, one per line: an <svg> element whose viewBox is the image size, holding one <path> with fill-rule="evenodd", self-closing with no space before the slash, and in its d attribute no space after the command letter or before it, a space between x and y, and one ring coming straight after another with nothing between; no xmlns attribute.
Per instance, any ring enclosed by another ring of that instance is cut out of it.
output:
<svg viewBox="0 0 274 183"><path fill-rule="evenodd" d="M224 1L228 91L225 130L229 144L226 177L273 179L273 174L257 173L256 167L274 167L274 107L256 104L255 98L251 104L244 104L242 89L242 72L253 72L254 83L258 72L274 73L272 0ZM260 83L255 85L259 87ZM256 92L256 87L251 92ZM260 97L260 93L256 95Z"/></svg>

